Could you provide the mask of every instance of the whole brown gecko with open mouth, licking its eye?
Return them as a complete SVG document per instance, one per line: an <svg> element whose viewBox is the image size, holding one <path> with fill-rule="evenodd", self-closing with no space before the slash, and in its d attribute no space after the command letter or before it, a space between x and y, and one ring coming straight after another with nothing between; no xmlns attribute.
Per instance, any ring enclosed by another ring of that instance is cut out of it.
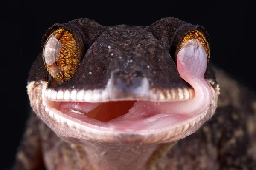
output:
<svg viewBox="0 0 256 170"><path fill-rule="evenodd" d="M29 71L15 170L256 169L256 95L204 27L55 24Z"/></svg>

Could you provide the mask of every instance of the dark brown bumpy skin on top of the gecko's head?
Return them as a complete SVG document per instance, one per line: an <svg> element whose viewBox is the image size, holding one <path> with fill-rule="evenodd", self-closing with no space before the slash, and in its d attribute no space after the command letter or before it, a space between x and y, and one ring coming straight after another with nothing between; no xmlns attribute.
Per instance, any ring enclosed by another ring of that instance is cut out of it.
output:
<svg viewBox="0 0 256 170"><path fill-rule="evenodd" d="M182 38L191 30L202 30L207 37L201 26L171 17L148 27L102 27L95 21L78 19L52 26L47 31L43 44L47 36L58 28L70 30L74 35L79 32L84 42L83 53L86 54L73 79L56 87L47 87L56 90L72 89L74 85L76 89L84 90L105 88L111 76L123 84L126 84L127 77L132 77L131 84L135 85L139 84L142 77L147 77L150 89L190 88L177 72L175 51ZM205 78L215 82L212 73L212 67L208 65ZM32 65L28 81L51 82L41 55Z"/></svg>

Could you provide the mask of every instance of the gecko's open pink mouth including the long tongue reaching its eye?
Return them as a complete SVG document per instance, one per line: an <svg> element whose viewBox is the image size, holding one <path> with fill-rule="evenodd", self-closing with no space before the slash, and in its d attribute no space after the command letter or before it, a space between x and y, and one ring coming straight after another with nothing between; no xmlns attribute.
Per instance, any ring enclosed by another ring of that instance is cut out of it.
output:
<svg viewBox="0 0 256 170"><path fill-rule="evenodd" d="M49 110L55 113L105 129L156 130L186 124L201 113L205 113L212 100L211 88L204 79L207 56L204 48L196 45L195 42L185 45L177 56L180 76L195 91L192 99L166 102L147 100L78 102L51 100L46 95L45 103Z"/></svg>

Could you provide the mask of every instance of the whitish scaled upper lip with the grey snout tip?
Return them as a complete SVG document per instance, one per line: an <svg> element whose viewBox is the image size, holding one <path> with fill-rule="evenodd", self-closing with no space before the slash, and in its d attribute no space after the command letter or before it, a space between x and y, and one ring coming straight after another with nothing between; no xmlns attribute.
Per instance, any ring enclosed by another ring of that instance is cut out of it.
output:
<svg viewBox="0 0 256 170"><path fill-rule="evenodd" d="M148 78L146 77L136 77L136 83L127 85L122 79L111 76L104 89L77 90L76 86L73 86L70 90L48 88L44 92L44 95L49 100L66 102L108 102L123 100L168 102L192 99L195 96L195 91L192 88L185 87L175 89L150 88Z"/></svg>

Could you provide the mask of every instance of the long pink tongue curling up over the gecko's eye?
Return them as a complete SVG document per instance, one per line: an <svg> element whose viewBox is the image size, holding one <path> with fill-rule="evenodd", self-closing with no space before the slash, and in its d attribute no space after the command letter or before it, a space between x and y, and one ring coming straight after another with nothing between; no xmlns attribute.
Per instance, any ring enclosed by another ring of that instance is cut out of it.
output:
<svg viewBox="0 0 256 170"><path fill-rule="evenodd" d="M190 40L177 54L177 69L180 77L195 90L195 97L183 102L148 102L138 101L129 110L131 115L143 111L144 114L182 114L196 116L204 112L212 100L211 88L204 79L207 66L207 54L198 40Z"/></svg>

